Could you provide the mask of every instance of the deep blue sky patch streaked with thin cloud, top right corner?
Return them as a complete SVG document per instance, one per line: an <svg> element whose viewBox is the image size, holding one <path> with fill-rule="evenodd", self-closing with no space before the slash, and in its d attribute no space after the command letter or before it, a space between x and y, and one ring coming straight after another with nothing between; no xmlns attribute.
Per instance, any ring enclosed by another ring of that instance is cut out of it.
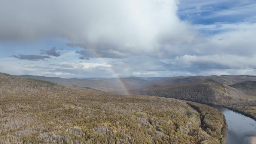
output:
<svg viewBox="0 0 256 144"><path fill-rule="evenodd" d="M255 0L181 0L178 15L191 24L214 24L216 22L255 22ZM253 18L254 17L254 18Z"/></svg>

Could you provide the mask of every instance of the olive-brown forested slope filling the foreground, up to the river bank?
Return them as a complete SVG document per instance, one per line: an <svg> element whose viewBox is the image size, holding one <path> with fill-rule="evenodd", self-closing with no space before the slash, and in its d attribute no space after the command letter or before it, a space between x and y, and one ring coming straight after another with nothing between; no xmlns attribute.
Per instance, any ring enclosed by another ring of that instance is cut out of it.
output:
<svg viewBox="0 0 256 144"><path fill-rule="evenodd" d="M110 94L0 73L0 143L223 143L223 115L207 105L196 107L177 99Z"/></svg>

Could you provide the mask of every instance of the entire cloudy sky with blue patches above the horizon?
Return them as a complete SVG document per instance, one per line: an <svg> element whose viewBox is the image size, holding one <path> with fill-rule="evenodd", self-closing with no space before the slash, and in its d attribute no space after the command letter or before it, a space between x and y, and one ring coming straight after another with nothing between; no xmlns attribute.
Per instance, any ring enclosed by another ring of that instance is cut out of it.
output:
<svg viewBox="0 0 256 144"><path fill-rule="evenodd" d="M256 75L256 0L1 0L0 72Z"/></svg>

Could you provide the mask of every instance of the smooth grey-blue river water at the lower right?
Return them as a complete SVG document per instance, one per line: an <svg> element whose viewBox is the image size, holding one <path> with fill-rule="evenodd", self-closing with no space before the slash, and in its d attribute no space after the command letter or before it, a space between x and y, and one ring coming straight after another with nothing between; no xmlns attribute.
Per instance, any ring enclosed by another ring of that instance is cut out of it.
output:
<svg viewBox="0 0 256 144"><path fill-rule="evenodd" d="M227 108L214 107L222 111L228 123L226 144L250 144L250 137L256 136L256 121Z"/></svg>

